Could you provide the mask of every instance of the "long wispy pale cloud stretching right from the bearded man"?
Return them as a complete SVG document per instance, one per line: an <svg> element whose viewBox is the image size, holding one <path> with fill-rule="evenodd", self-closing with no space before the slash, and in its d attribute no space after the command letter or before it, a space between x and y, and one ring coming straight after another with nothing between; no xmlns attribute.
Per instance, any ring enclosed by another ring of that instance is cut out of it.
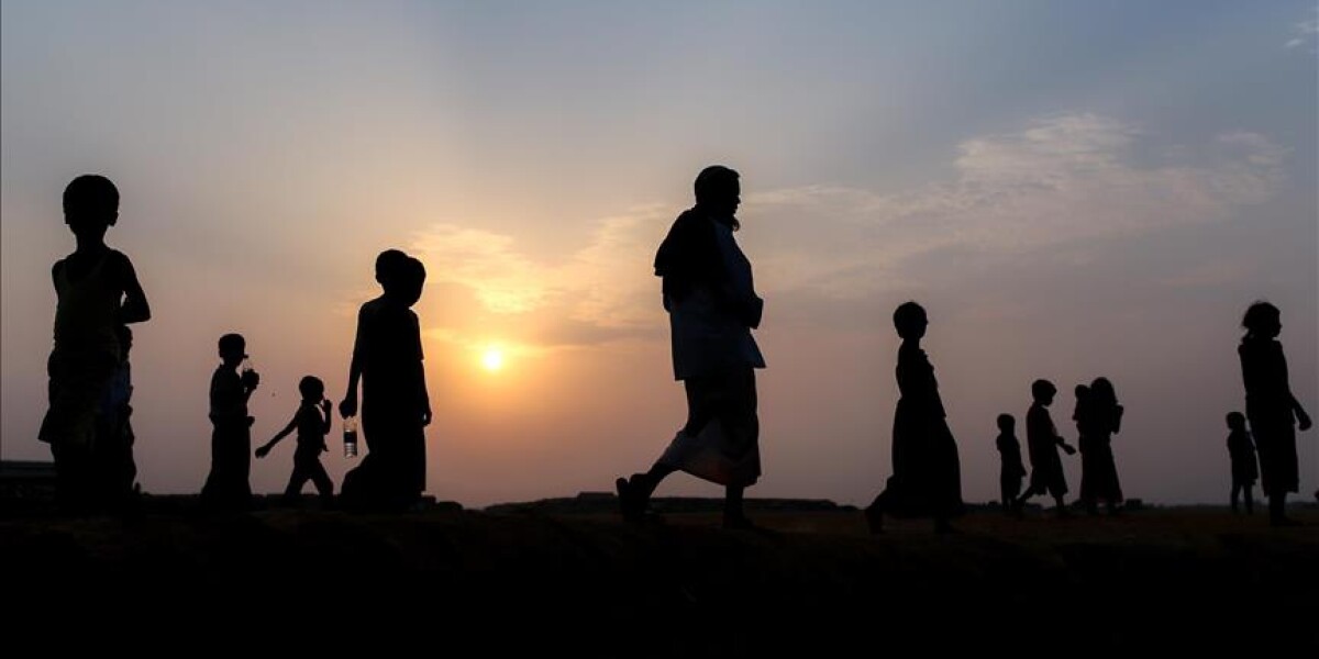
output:
<svg viewBox="0 0 1319 659"><path fill-rule="evenodd" d="M917 190L753 194L747 215L774 235L757 265L774 265L770 289L851 297L905 287L906 266L935 253L1022 258L1224 220L1272 196L1287 154L1261 134L1232 132L1196 152L1179 149L1175 162L1141 163L1133 152L1142 140L1142 130L1109 117L1062 115L962 142L955 178Z"/></svg>

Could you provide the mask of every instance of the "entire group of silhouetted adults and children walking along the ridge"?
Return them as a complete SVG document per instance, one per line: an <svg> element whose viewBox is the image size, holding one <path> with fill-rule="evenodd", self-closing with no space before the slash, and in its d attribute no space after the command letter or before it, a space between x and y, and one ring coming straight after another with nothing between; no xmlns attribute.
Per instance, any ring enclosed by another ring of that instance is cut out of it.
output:
<svg viewBox="0 0 1319 659"><path fill-rule="evenodd" d="M669 315L673 372L686 389L687 418L646 471L617 478L615 488L623 518L640 522L654 515L650 498L660 484L674 472L687 472L724 486L725 527L751 529L754 525L745 514L744 493L761 476L756 369L765 368L752 330L760 327L764 301L756 293L751 261L735 240L741 227L736 215L740 175L725 166L706 167L694 191L695 206L673 223L654 261ZM115 185L99 175L78 177L65 190L63 211L77 249L51 272L58 303L47 365L50 407L38 436L51 447L62 505L73 510L116 507L132 501L136 473L128 424L128 326L150 319L150 308L129 258L104 241L119 219ZM359 384L364 384L360 409L367 456L346 474L340 496L334 497L334 484L319 463L321 453L328 449L324 436L332 406L321 378L306 376L299 381L302 402L293 419L256 449L256 456L264 457L297 432L286 496L297 496L310 480L326 502L346 507L408 510L419 502L426 482L425 427L431 411L419 322L412 307L421 298L425 278L421 261L404 252L390 249L377 257L376 281L383 294L364 303L357 314L348 387L338 406L355 428ZM896 368L900 397L893 418L893 473L865 509L865 519L874 532L882 531L885 517L929 517L936 530L947 531L964 507L962 468L934 366L921 348L929 316L921 304L905 302L894 310L893 326L902 340ZM1295 431L1308 430L1311 420L1289 386L1286 360L1277 341L1282 328L1278 308L1257 302L1246 311L1242 326L1246 335L1239 353L1246 411L1228 416L1232 503L1235 509L1237 493L1244 490L1246 509L1252 506L1257 451L1270 519L1290 525L1283 513L1287 493L1299 489ZM252 496L248 476L253 418L247 402L260 376L244 366L247 343L241 335L224 335L218 351L222 364L210 387L211 473L202 501L208 507L241 510ZM1025 492L1016 419L1010 414L997 418L1004 509L1020 514L1029 498L1049 494L1066 513L1067 482L1058 451L1071 455L1076 449L1063 440L1049 414L1057 387L1038 380L1030 391L1030 478ZM1116 513L1122 490L1112 436L1121 428L1122 406L1104 377L1078 385L1075 395L1080 503L1097 511L1104 502Z"/></svg>

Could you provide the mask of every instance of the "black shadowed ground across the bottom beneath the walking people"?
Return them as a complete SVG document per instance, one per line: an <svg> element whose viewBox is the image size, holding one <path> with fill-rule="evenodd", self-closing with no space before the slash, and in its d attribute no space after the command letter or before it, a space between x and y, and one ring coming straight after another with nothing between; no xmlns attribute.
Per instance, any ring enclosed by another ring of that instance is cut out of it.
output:
<svg viewBox="0 0 1319 659"><path fill-rule="evenodd" d="M748 506L754 511L757 507ZM1319 510L608 514L269 509L0 519L7 643L286 643L373 655L877 656L1319 648ZM54 634L53 630L78 630ZM190 641L169 641L187 638ZM182 645L179 645L182 643ZM264 654L264 652L261 652ZM1303 655L1303 654L1302 654Z"/></svg>

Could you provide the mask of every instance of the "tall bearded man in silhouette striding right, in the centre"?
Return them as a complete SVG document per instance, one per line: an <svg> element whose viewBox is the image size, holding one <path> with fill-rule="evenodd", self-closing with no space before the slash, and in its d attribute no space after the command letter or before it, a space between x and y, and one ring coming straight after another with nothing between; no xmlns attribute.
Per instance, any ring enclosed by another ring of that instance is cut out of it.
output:
<svg viewBox="0 0 1319 659"><path fill-rule="evenodd" d="M764 301L733 240L741 227L739 174L710 166L694 187L696 204L673 223L654 264L663 278L674 378L687 391L687 423L649 472L617 478L615 486L624 519L638 521L660 481L681 469L723 485L724 527L749 529L743 490L760 478L754 369L765 368L751 331L760 327Z"/></svg>

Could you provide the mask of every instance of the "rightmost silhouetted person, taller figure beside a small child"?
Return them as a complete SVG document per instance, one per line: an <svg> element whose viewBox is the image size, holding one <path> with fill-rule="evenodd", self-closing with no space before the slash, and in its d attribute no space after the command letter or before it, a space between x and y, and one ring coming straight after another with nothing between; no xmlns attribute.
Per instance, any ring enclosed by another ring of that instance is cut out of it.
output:
<svg viewBox="0 0 1319 659"><path fill-rule="evenodd" d="M1245 415L1250 419L1254 447L1260 453L1264 493L1269 497L1269 521L1273 526L1294 526L1286 517L1287 493L1301 490L1297 464L1297 428L1310 430L1310 415L1291 395L1287 384L1287 360L1282 344L1282 314L1268 302L1256 302L1241 319L1246 335L1237 353L1245 381Z"/></svg>

